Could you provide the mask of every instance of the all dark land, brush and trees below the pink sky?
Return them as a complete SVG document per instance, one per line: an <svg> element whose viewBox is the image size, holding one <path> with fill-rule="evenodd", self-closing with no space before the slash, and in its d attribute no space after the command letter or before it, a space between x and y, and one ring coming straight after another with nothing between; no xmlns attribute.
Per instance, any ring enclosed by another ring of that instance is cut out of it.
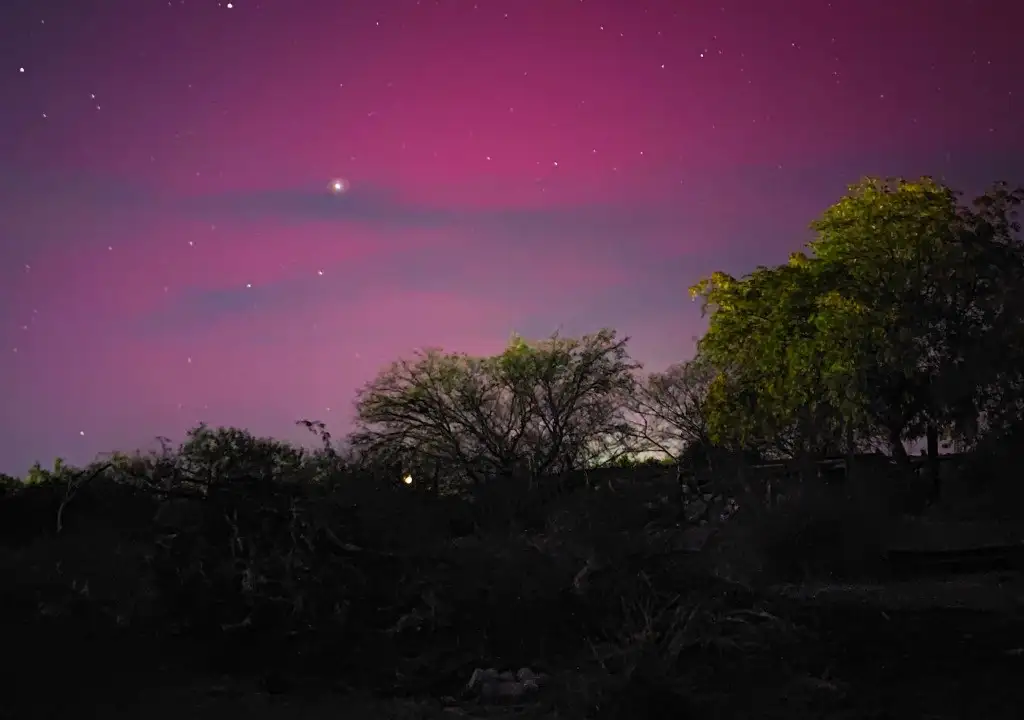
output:
<svg viewBox="0 0 1024 720"><path fill-rule="evenodd" d="M1019 717L1019 199L857 185L664 373L427 351L342 442L7 478L0 717Z"/></svg>

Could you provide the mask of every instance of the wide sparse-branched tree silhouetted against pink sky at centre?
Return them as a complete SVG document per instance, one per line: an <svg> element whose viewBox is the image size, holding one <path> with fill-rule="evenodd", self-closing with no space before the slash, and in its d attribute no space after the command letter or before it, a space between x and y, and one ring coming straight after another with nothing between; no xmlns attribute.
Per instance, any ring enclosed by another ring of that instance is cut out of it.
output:
<svg viewBox="0 0 1024 720"><path fill-rule="evenodd" d="M514 336L492 357L418 352L359 391L352 443L474 483L580 468L626 433L621 398L637 367L627 342L603 330Z"/></svg>

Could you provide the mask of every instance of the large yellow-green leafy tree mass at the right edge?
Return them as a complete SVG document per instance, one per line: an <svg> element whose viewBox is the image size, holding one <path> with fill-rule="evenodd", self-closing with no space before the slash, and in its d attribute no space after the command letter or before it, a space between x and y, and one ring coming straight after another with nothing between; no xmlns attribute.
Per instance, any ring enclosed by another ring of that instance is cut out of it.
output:
<svg viewBox="0 0 1024 720"><path fill-rule="evenodd" d="M855 426L879 428L895 457L926 434L934 458L1014 375L991 353L1022 347L1020 197L996 185L966 207L930 178L869 178L812 224L809 256L694 286L712 313L713 429L796 423L806 444L842 426L850 448Z"/></svg>

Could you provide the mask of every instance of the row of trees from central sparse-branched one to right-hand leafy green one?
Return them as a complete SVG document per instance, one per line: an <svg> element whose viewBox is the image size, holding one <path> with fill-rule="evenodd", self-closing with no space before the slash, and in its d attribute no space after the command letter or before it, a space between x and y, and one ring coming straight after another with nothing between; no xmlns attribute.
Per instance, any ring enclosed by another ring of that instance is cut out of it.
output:
<svg viewBox="0 0 1024 720"><path fill-rule="evenodd" d="M640 375L611 331L513 338L494 357L430 350L362 389L352 447L479 483L649 453L882 448L906 465L911 440L932 458L940 440L1005 444L1024 400L1021 199L865 180L812 224L807 252L690 289L709 316L693 361Z"/></svg>

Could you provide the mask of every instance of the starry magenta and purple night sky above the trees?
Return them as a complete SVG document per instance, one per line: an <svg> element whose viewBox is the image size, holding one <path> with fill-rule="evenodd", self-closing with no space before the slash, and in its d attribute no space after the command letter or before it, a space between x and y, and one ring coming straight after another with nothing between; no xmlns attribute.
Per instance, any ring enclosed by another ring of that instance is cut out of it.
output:
<svg viewBox="0 0 1024 720"><path fill-rule="evenodd" d="M1012 0L3 0L0 471L297 438L420 346L617 328L865 174L1024 168ZM342 179L343 193L332 181Z"/></svg>

